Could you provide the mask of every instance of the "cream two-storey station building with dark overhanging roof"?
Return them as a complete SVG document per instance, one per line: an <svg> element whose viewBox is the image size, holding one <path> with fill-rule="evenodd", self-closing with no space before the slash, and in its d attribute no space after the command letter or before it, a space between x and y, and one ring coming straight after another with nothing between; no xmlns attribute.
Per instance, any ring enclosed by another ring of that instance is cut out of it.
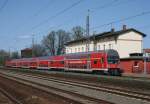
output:
<svg viewBox="0 0 150 104"><path fill-rule="evenodd" d="M109 32L104 32L91 36L89 43L89 51L117 50L120 58L129 57L131 53L142 53L143 37L146 35L135 29L126 29L120 31L112 29ZM66 44L66 54L86 52L87 39L73 40Z"/></svg>

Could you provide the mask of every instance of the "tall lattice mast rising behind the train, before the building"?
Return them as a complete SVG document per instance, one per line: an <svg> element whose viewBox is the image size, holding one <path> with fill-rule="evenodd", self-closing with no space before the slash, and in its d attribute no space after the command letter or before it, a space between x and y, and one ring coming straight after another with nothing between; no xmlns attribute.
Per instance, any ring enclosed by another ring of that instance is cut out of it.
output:
<svg viewBox="0 0 150 104"><path fill-rule="evenodd" d="M86 17L86 37L87 37L87 42L86 42L86 51L89 52L90 51L90 36L89 36L89 27L90 27L90 24L89 24L89 12L90 10L88 10L88 15Z"/></svg>

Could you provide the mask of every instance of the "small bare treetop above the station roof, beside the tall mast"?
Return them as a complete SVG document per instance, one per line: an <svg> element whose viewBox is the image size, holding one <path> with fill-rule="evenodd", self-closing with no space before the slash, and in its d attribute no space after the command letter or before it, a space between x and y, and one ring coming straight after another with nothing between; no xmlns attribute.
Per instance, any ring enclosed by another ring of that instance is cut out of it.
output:
<svg viewBox="0 0 150 104"><path fill-rule="evenodd" d="M81 39L84 37L85 30L81 26L76 26L72 28L73 39Z"/></svg>

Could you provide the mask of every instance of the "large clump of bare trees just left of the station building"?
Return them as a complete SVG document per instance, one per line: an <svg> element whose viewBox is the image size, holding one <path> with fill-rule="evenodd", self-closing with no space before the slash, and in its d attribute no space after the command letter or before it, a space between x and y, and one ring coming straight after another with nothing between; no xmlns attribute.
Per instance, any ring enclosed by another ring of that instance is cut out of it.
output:
<svg viewBox="0 0 150 104"><path fill-rule="evenodd" d="M64 44L70 40L70 33L64 30L52 31L43 38L42 44L50 51L51 55L64 53Z"/></svg>

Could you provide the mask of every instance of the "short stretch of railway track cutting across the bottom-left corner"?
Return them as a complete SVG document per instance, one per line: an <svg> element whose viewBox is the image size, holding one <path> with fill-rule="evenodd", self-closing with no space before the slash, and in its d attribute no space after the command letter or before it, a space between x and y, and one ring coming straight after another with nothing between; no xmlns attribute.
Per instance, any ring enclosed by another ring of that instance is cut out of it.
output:
<svg viewBox="0 0 150 104"><path fill-rule="evenodd" d="M4 94L13 104L23 104L21 101L13 97L11 94L9 94L7 91L4 89L0 88L0 92Z"/></svg>

